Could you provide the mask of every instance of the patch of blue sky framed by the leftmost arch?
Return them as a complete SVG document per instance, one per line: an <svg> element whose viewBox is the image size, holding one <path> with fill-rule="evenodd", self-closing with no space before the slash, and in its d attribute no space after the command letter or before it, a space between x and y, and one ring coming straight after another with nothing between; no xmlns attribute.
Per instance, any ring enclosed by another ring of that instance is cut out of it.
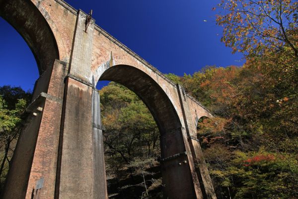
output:
<svg viewBox="0 0 298 199"><path fill-rule="evenodd" d="M21 87L32 92L39 77L32 51L20 34L2 18L0 27L3 30L0 32L0 86Z"/></svg>

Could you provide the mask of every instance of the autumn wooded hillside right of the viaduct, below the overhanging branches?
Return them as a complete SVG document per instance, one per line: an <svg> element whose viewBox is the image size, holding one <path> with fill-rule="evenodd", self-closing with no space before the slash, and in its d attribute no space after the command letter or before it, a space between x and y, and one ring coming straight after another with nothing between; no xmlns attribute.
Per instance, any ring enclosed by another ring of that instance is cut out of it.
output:
<svg viewBox="0 0 298 199"><path fill-rule="evenodd" d="M182 79L216 116L200 119L197 132L219 199L298 196L298 75L287 56L267 53Z"/></svg>

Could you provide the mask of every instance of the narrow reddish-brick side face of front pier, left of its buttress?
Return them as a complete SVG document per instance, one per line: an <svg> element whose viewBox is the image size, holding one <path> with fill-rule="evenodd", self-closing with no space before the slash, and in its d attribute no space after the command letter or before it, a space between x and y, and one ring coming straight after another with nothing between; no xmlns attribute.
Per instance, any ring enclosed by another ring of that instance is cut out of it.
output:
<svg viewBox="0 0 298 199"><path fill-rule="evenodd" d="M62 100L67 65L56 60L52 68L52 72L45 73L43 78L49 79L48 94ZM48 75L49 78L45 75ZM29 177L27 199L31 199L36 181L40 178L44 178L44 188L40 191L39 197L54 198L61 113L62 102L46 100Z"/></svg>

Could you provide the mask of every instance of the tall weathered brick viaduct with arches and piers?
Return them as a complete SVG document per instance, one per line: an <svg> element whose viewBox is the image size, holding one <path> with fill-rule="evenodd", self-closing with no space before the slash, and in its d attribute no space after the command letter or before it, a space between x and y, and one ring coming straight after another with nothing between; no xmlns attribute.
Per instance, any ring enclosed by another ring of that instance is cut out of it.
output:
<svg viewBox="0 0 298 199"><path fill-rule="evenodd" d="M216 199L196 139L198 119L212 115L180 85L94 19L85 29L86 13L63 0L0 0L0 16L25 39L40 74L3 199L107 198L99 80L126 86L151 111L161 133L165 198Z"/></svg>

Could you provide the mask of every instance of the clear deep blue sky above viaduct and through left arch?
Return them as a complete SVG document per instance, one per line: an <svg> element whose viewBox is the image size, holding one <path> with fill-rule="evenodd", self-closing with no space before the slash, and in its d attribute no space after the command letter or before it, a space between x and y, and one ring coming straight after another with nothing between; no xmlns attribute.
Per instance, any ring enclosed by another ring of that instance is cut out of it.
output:
<svg viewBox="0 0 298 199"><path fill-rule="evenodd" d="M219 0L67 0L93 9L96 24L162 73L193 74L206 65L242 65L241 54L220 41L215 23ZM206 21L204 21L206 20ZM33 89L35 59L22 37L0 18L0 86Z"/></svg>

